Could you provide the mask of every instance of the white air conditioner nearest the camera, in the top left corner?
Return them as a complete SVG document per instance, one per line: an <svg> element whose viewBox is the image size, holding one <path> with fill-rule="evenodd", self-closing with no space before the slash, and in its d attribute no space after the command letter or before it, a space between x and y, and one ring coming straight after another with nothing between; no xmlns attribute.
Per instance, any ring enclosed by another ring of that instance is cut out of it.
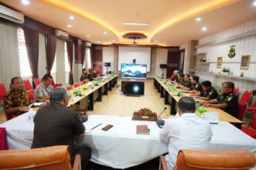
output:
<svg viewBox="0 0 256 170"><path fill-rule="evenodd" d="M24 23L24 15L4 5L0 5L0 17L12 22Z"/></svg>

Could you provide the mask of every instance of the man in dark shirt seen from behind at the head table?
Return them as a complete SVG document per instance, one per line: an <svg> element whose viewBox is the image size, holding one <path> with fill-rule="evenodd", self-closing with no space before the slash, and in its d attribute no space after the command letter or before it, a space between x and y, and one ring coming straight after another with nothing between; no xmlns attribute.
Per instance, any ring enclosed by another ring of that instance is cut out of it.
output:
<svg viewBox="0 0 256 170"><path fill-rule="evenodd" d="M68 102L67 90L64 87L55 87L50 92L50 103L36 112L31 148L69 145L71 165L74 164L75 155L80 154L81 168L85 169L91 158L91 149L74 144L74 140L79 142L85 137L85 126L78 113L67 108Z"/></svg>

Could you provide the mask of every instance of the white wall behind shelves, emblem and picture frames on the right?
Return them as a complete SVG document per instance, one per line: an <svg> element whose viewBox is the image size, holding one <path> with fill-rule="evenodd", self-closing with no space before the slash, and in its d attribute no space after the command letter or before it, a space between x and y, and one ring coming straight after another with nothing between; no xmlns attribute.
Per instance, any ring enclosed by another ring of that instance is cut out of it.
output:
<svg viewBox="0 0 256 170"><path fill-rule="evenodd" d="M237 36L240 33L248 32L256 29L256 20L246 22L240 26L236 26L231 29L227 29L223 32L218 32L212 36L205 37L203 39L199 39L199 45L204 44L206 42L213 42L220 39L225 39L230 36ZM230 59L227 56L227 53L230 49L231 45L235 45L236 56ZM213 73L221 73L222 69L216 68L216 59L219 56L223 57L223 67L230 67L230 71L234 73L234 76L240 76L240 73L243 72L244 76L256 78L256 36L250 36L243 39L237 39L231 42L223 42L219 44L215 44L212 46L200 47L197 49L197 53L206 53L207 62L213 62L209 65L209 71L213 71ZM240 58L242 55L251 55L251 63L249 66L249 70L240 70ZM225 63L230 62L230 63ZM240 87L243 90L254 90L255 89L255 81L249 80L239 80L239 79L230 79L221 76L213 76L205 73L198 73L198 75L202 78L202 80L211 80L212 82L219 85L224 81L231 80L235 83L236 87Z"/></svg>

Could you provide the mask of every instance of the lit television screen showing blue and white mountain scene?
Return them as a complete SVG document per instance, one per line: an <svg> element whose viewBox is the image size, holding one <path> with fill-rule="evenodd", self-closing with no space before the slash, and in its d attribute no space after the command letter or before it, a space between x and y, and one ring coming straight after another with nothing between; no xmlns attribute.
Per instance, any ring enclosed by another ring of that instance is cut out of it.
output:
<svg viewBox="0 0 256 170"><path fill-rule="evenodd" d="M146 79L147 64L121 64L121 78L126 79Z"/></svg>

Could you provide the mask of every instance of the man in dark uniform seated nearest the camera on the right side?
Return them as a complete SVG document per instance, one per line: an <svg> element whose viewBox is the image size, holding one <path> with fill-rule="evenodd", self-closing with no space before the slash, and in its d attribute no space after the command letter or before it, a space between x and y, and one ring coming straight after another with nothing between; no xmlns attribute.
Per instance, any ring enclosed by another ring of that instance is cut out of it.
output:
<svg viewBox="0 0 256 170"><path fill-rule="evenodd" d="M206 101L205 107L217 107L234 117L238 114L238 97L234 93L234 83L225 82L222 86L222 93L213 100Z"/></svg>

